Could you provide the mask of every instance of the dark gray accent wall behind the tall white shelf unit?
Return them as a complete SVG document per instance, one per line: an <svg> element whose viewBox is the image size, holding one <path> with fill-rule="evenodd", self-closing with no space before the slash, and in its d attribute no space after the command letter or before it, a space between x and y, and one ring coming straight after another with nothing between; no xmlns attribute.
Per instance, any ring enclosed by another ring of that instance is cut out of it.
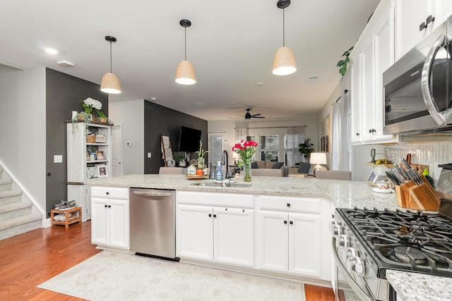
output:
<svg viewBox="0 0 452 301"><path fill-rule="evenodd" d="M81 102L91 97L102 102L102 112L108 115L108 94L100 91L100 85L46 68L46 212L61 199L67 198L66 187L66 121L72 111L83 111ZM62 163L54 163L54 155L63 157Z"/></svg>

